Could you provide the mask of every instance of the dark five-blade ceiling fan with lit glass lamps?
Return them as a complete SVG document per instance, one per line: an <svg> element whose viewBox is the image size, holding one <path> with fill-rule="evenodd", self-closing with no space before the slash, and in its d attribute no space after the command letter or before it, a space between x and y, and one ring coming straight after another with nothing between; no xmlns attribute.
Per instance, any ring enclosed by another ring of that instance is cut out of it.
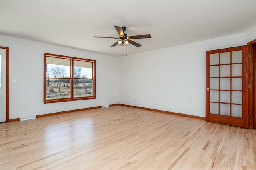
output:
<svg viewBox="0 0 256 170"><path fill-rule="evenodd" d="M126 46L126 45L129 45L129 43L132 44L132 45L135 45L136 47L140 47L140 46L142 46L141 44L136 43L136 42L132 41L131 39L151 38L150 34L127 36L127 34L124 33L124 31L126 30L126 27L119 27L119 26L114 26L114 27L116 28L116 31L119 34L119 38L115 38L115 37L98 37L98 36L94 36L94 37L95 38L115 38L115 39L119 39L113 45L111 45L111 47L114 47L116 45Z"/></svg>

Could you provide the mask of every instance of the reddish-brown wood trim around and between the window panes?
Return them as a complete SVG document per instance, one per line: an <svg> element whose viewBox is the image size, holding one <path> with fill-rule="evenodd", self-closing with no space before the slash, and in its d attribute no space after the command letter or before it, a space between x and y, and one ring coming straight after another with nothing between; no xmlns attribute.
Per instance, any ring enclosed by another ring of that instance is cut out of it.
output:
<svg viewBox="0 0 256 170"><path fill-rule="evenodd" d="M46 100L46 57L56 57L61 59L71 59L71 66L70 66L70 90L72 90L70 98L61 98L61 99L51 99ZM92 88L93 88L93 95L92 96L83 96L83 97L74 97L74 60L80 60L80 61L88 61L92 62ZM78 58L78 57L70 57L70 56L64 56L64 55L56 55L56 54L50 54L50 53L44 53L44 104L47 103L56 103L56 102L68 102L68 101L76 101L76 100L89 100L89 99L95 99L96 98L96 60L92 59L84 59L84 58Z"/></svg>

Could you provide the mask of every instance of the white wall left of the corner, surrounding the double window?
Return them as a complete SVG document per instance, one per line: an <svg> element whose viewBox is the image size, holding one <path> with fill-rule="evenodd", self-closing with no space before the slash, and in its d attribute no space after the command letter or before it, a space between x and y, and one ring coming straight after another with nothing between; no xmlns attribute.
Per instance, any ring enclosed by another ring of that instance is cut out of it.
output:
<svg viewBox="0 0 256 170"><path fill-rule="evenodd" d="M9 47L10 119L118 103L118 58L0 35ZM43 103L44 53L96 60L96 99ZM65 109L67 106L67 109Z"/></svg>

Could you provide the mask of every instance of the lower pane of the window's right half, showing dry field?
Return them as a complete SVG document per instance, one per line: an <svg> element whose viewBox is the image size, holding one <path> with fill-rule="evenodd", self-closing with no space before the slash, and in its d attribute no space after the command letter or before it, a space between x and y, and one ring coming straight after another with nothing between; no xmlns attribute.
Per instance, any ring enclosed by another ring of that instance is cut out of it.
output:
<svg viewBox="0 0 256 170"><path fill-rule="evenodd" d="M74 97L93 96L92 79L75 79Z"/></svg>

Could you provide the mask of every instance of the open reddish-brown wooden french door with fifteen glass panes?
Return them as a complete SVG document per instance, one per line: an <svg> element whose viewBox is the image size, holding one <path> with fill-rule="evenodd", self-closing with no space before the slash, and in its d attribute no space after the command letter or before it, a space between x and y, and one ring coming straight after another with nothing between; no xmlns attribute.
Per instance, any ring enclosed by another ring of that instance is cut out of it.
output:
<svg viewBox="0 0 256 170"><path fill-rule="evenodd" d="M248 47L206 51L206 121L249 127Z"/></svg>

